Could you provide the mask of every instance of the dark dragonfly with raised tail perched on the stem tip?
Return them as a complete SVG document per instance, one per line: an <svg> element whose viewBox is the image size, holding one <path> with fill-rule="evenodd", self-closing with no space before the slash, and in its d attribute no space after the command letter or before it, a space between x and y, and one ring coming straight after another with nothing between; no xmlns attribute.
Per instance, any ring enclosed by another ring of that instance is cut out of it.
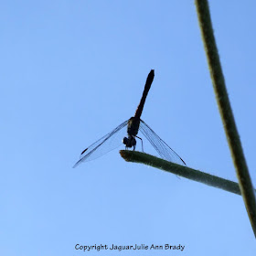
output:
<svg viewBox="0 0 256 256"><path fill-rule="evenodd" d="M115 129L113 129L112 132L107 133L94 144L91 144L89 147L83 150L80 154L80 160L73 166L74 168L83 162L91 161L100 157L101 155L105 155L121 144L125 145L125 149L133 148L133 150L135 150L136 138L141 140L142 150L144 151L143 140L141 137L137 136L139 131L144 134L144 137L150 142L150 144L154 146L155 151L163 159L178 165L186 165L184 160L179 155L177 155L171 147L165 144L165 142L141 119L141 115L144 109L144 102L148 91L151 88L154 77L155 70L151 69L144 85L143 96L134 116L124 121ZM123 137L125 128L127 129L127 136Z"/></svg>

